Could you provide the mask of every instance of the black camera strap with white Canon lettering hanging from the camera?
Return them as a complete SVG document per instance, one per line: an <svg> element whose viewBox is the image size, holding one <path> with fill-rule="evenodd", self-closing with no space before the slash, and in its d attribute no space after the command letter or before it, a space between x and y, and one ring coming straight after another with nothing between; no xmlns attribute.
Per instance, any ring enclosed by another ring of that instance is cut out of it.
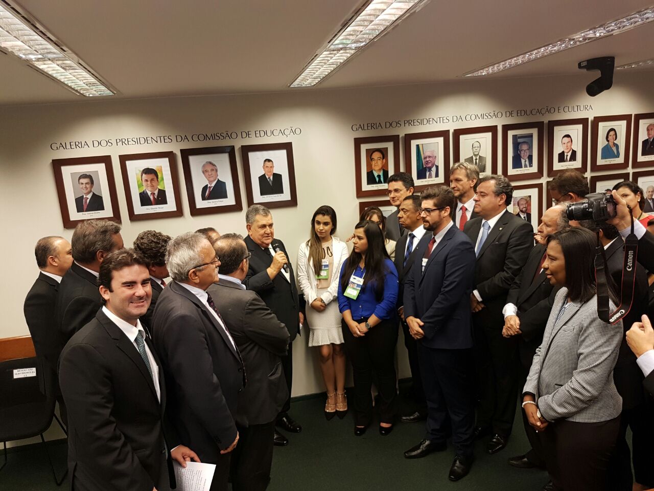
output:
<svg viewBox="0 0 654 491"><path fill-rule="evenodd" d="M634 234L634 215L631 215L631 233L625 239L625 252L622 265L622 283L620 285L620 304L614 312L609 312L609 287L606 280L606 253L600 242L600 230L597 230L597 247L595 249L595 283L597 285L597 314L604 322L611 325L623 319L631 309L634 301L636 283L636 258L638 257L638 238Z"/></svg>

